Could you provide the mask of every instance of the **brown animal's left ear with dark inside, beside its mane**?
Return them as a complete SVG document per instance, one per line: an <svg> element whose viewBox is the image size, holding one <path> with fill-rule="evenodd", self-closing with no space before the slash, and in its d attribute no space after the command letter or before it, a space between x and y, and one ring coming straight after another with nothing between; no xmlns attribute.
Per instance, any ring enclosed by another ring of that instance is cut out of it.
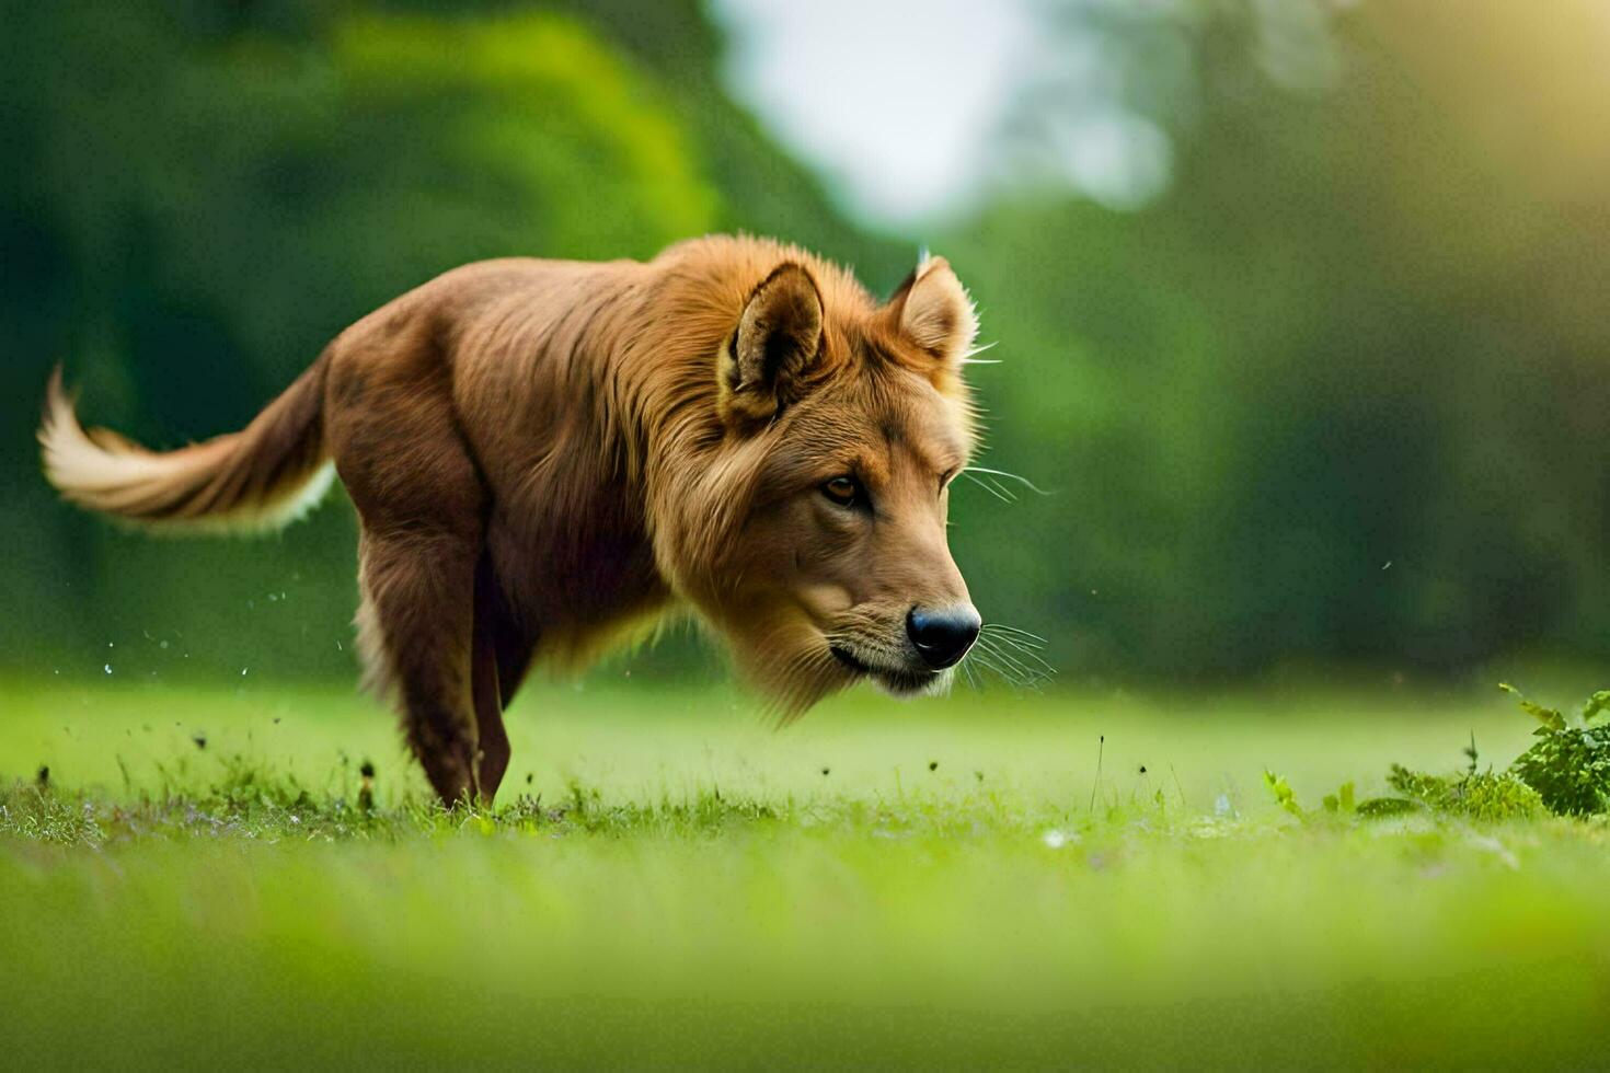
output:
<svg viewBox="0 0 1610 1073"><path fill-rule="evenodd" d="M821 293L810 272L779 264L750 291L721 347L721 417L739 425L768 421L799 399L821 351Z"/></svg>

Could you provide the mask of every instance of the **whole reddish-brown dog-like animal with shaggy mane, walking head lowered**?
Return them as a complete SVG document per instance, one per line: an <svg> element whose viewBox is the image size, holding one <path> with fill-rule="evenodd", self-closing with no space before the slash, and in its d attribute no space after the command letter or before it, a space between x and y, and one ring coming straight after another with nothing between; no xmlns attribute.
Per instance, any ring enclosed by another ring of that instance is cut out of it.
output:
<svg viewBox="0 0 1610 1073"><path fill-rule="evenodd" d="M489 801L533 656L578 664L678 606L786 714L863 676L943 689L979 632L945 544L976 328L942 259L884 306L753 238L488 261L359 320L240 433L85 433L58 376L39 439L66 499L172 529L283 524L333 460L369 680L443 801Z"/></svg>

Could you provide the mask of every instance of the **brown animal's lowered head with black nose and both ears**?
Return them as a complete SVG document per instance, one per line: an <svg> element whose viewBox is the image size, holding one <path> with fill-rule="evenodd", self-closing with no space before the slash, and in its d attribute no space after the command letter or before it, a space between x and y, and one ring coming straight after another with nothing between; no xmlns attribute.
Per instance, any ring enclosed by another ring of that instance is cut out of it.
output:
<svg viewBox="0 0 1610 1073"><path fill-rule="evenodd" d="M778 265L716 356L716 409L749 471L713 566L713 615L784 711L861 677L945 689L980 618L950 557L950 483L974 431L961 367L977 319L943 259L884 306L834 317Z"/></svg>

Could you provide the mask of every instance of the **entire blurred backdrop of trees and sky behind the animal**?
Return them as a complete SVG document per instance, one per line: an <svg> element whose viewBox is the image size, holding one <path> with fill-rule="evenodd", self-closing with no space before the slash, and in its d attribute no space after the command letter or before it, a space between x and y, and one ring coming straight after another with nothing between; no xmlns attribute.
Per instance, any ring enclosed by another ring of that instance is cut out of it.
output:
<svg viewBox="0 0 1610 1073"><path fill-rule="evenodd" d="M56 362L171 447L460 262L737 228L971 286L980 463L1045 494L963 486L953 547L1064 685L1610 656L1592 0L0 10L0 671L353 672L345 502L256 542L87 518L39 475Z"/></svg>

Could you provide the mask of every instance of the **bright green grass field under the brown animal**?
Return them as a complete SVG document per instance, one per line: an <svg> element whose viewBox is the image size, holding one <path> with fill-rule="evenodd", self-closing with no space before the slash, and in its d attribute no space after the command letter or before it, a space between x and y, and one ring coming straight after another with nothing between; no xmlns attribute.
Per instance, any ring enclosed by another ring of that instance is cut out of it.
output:
<svg viewBox="0 0 1610 1073"><path fill-rule="evenodd" d="M443 814L346 692L0 690L16 1068L1607 1060L1610 827L1319 809L1502 767L1496 692L539 685Z"/></svg>

